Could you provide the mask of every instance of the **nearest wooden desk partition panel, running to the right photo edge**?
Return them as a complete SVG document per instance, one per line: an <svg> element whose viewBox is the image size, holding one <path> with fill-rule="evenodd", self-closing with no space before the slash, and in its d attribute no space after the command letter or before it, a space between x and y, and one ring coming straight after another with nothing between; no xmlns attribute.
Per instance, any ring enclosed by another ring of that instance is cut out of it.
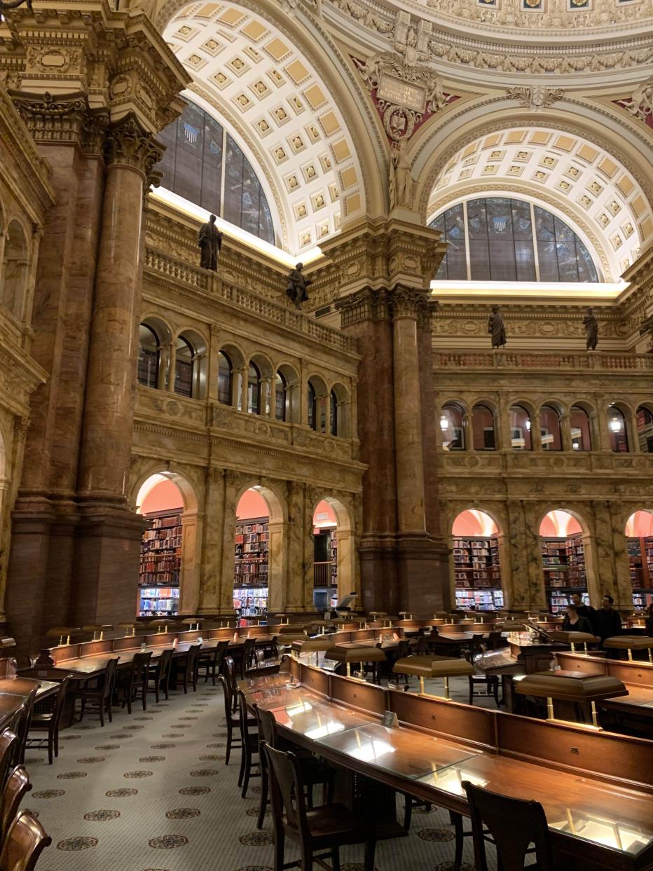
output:
<svg viewBox="0 0 653 871"><path fill-rule="evenodd" d="M495 717L499 751L505 756L526 762L542 760L614 782L629 780L630 786L653 793L653 741L516 714L496 712Z"/></svg>

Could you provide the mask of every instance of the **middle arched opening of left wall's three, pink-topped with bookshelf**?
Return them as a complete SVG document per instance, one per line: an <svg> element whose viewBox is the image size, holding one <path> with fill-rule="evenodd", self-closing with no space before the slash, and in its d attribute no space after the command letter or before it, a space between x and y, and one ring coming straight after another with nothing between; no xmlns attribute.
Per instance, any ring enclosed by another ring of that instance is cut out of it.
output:
<svg viewBox="0 0 653 871"><path fill-rule="evenodd" d="M236 505L236 558L233 608L240 625L267 617L270 506L259 487L251 487Z"/></svg>

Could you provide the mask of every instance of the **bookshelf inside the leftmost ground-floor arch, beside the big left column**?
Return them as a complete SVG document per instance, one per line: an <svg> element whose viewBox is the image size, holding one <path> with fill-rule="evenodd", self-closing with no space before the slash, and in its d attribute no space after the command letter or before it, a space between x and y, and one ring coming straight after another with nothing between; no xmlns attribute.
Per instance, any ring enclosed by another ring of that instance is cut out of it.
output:
<svg viewBox="0 0 653 871"><path fill-rule="evenodd" d="M140 543L138 616L173 617L179 612L181 511L154 511L145 517L151 529L145 530Z"/></svg>

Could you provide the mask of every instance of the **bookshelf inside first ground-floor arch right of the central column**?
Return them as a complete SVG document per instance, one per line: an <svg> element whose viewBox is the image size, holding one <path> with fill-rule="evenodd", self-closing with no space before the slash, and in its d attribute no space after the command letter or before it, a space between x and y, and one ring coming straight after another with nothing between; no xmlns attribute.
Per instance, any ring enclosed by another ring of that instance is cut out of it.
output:
<svg viewBox="0 0 653 871"><path fill-rule="evenodd" d="M496 536L454 538L455 606L464 611L503 607L499 541Z"/></svg>

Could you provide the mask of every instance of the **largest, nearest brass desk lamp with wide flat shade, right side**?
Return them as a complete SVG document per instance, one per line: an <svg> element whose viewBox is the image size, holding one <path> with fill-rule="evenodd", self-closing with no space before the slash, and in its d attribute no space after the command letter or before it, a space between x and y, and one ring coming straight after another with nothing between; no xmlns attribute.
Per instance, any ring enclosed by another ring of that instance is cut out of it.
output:
<svg viewBox="0 0 653 871"><path fill-rule="evenodd" d="M552 723L562 723L565 726L580 726L585 729L601 729L596 715L596 701L614 699L616 696L627 696L628 690L621 680L610 678L606 674L585 674L559 669L557 672L535 672L527 674L515 684L515 691L523 696L539 696L547 699L547 719ZM592 725L574 723L572 720L555 717L554 699L572 702L589 702L592 712Z"/></svg>

